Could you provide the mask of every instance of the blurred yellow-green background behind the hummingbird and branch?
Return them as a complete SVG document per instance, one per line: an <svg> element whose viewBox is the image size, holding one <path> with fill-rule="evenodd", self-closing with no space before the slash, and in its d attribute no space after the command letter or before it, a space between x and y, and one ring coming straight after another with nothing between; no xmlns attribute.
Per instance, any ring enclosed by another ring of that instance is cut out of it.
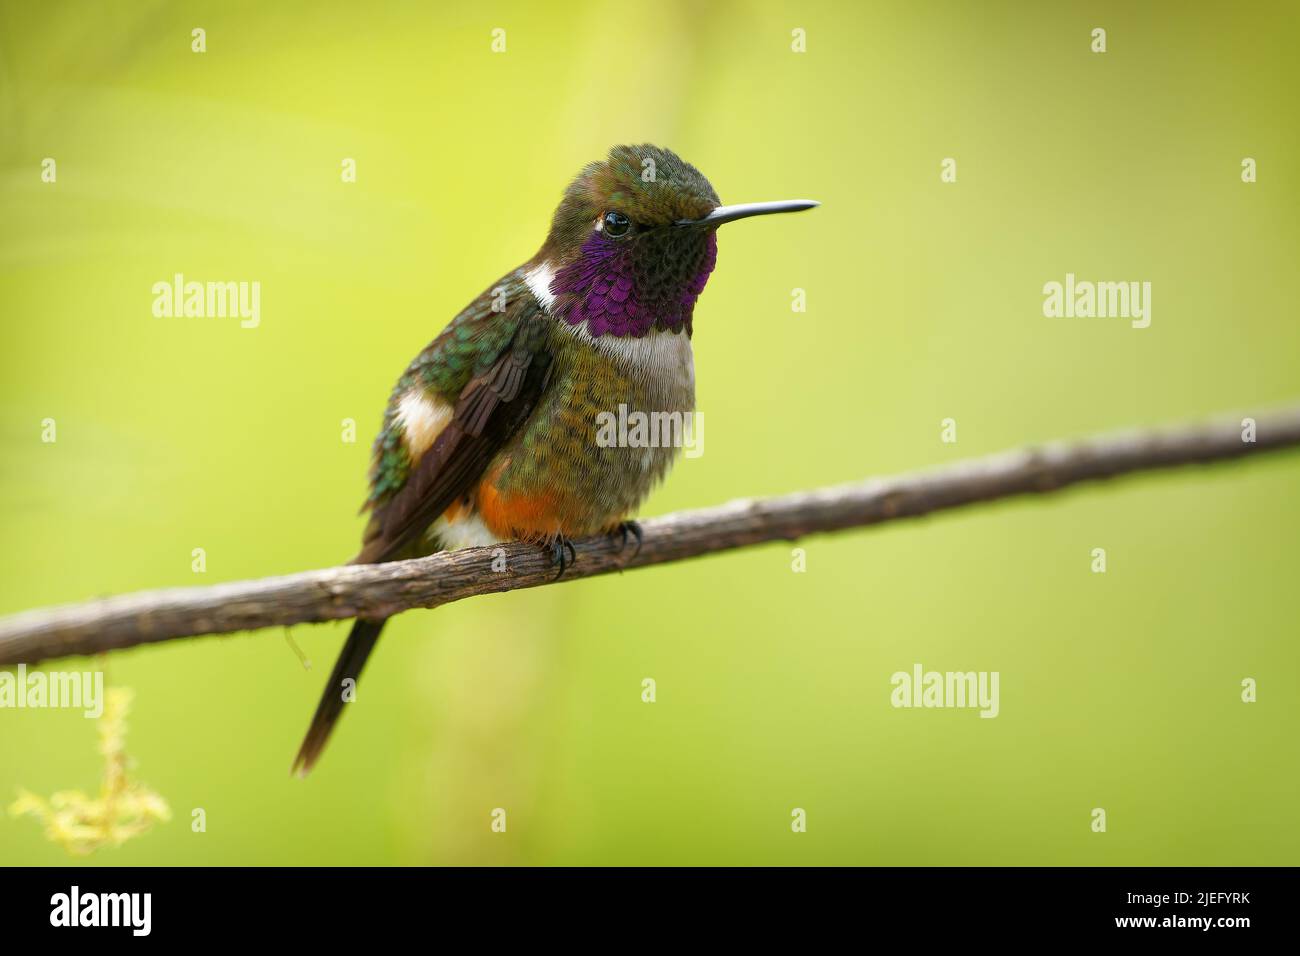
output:
<svg viewBox="0 0 1300 956"><path fill-rule="evenodd" d="M1295 4L0 9L4 613L348 558L393 381L620 142L824 203L723 230L706 453L646 514L1300 397ZM155 319L176 272L260 281L260 328ZM1150 281L1150 328L1045 319L1066 272ZM278 631L116 653L177 816L92 861L1296 864L1297 489L1282 455L413 611L308 780L344 624L295 628L311 671ZM915 662L1000 671L1001 715L890 708ZM0 801L99 775L92 722L0 711ZM4 862L66 858L0 817Z"/></svg>

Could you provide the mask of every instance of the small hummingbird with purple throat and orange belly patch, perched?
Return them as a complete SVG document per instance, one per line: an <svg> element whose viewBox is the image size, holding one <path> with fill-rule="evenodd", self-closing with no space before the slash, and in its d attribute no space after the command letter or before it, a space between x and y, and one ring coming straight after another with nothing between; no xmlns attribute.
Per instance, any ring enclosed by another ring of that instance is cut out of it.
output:
<svg viewBox="0 0 1300 956"><path fill-rule="evenodd" d="M546 242L415 356L374 440L354 564L525 540L563 575L571 538L629 536L673 447L595 440L602 412L692 415L696 300L718 226L818 203L722 206L698 169L616 146L564 190ZM306 775L384 630L359 618L294 761Z"/></svg>

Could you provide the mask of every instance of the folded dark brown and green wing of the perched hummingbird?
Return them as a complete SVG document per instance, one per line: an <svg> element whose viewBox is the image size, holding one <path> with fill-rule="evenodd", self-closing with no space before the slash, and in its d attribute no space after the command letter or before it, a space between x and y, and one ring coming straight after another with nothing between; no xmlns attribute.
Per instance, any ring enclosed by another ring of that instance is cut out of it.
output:
<svg viewBox="0 0 1300 956"><path fill-rule="evenodd" d="M478 483L546 386L550 321L516 272L476 299L416 358L394 389L376 442L373 516L354 563L419 550L429 524ZM412 458L402 441L398 407L402 395L421 386L452 414L429 449Z"/></svg>

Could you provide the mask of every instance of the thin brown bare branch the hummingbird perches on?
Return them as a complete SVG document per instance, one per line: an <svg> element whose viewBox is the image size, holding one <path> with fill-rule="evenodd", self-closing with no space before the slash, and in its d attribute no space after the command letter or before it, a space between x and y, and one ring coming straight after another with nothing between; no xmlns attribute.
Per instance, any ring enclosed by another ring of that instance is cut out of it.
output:
<svg viewBox="0 0 1300 956"><path fill-rule="evenodd" d="M564 580L682 561L732 548L840 531L1019 494L1057 492L1138 471L1257 455L1300 445L1300 406L1256 416L1254 442L1242 419L1100 436L1004 451L913 475L870 479L775 498L653 518L645 542L620 554L607 537L575 542ZM504 571L494 571L493 564ZM122 594L0 619L0 665L355 617L389 617L474 594L550 584L555 568L537 545L447 551L428 558L333 567L283 578Z"/></svg>

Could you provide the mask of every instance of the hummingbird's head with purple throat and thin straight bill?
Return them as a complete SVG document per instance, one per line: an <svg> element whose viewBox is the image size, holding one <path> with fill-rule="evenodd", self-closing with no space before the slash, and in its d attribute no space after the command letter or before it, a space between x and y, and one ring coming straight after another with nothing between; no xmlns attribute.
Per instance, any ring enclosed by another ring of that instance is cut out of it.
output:
<svg viewBox="0 0 1300 956"><path fill-rule="evenodd" d="M690 334L718 259L718 226L816 203L720 206L708 179L656 146L616 146L564 191L528 284L551 315L593 336Z"/></svg>

